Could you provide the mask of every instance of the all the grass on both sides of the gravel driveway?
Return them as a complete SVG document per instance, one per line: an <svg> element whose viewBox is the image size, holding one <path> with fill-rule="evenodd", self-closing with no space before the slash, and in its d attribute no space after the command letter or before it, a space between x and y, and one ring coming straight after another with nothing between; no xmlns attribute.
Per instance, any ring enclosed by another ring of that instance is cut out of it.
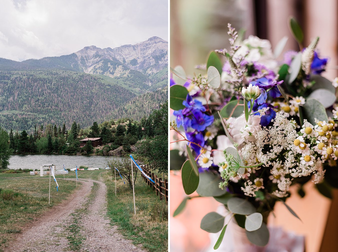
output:
<svg viewBox="0 0 338 252"><path fill-rule="evenodd" d="M0 251L8 241L20 233L22 228L50 207L61 203L74 190L81 190L81 184L63 180L64 175L56 175L59 192L55 182L51 181L51 206L48 205L49 177L41 179L29 173L0 173ZM70 171L65 178L76 178L75 171ZM135 184L136 215L132 190L117 180L115 196L114 174L110 181L110 171L78 171L78 178L102 180L107 186L107 217L112 225L119 226L120 232L135 245L142 244L150 252L168 250L168 204L156 196L155 192L143 181L140 174ZM93 189L96 187L94 186ZM77 224L69 229L74 234L70 247L76 249L81 241L77 240Z"/></svg>

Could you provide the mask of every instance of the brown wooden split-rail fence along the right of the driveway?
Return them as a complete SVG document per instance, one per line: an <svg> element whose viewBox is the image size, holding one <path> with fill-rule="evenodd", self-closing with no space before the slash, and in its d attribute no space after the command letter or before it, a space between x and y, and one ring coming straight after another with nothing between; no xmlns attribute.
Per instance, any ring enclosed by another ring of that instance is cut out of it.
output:
<svg viewBox="0 0 338 252"><path fill-rule="evenodd" d="M152 187L152 189L156 192L156 196L160 196L160 199L163 198L168 203L168 180L162 180L161 177L154 175L153 172L150 171L151 165L147 164L142 167L145 174L147 174L151 179L155 182L152 183L146 176L141 173L143 180L148 184L148 186Z"/></svg>

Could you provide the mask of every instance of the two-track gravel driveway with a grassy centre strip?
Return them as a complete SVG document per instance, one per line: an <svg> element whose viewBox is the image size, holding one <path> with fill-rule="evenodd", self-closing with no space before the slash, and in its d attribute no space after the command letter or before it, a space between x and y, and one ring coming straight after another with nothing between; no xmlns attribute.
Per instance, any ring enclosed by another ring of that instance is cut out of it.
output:
<svg viewBox="0 0 338 252"><path fill-rule="evenodd" d="M106 186L80 180L81 190L45 212L17 235L5 252L144 252L126 240L106 217ZM91 193L95 184L96 190Z"/></svg>

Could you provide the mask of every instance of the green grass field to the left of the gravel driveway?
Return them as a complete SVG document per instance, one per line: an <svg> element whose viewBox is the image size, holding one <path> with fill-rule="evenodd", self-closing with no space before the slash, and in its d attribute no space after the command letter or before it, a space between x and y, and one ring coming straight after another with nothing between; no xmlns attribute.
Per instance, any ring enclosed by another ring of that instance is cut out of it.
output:
<svg viewBox="0 0 338 252"><path fill-rule="evenodd" d="M44 177L47 179L29 173L0 173L0 251L28 222L61 203L75 190L75 183L65 180L58 182L57 192L52 180L49 206L49 176ZM78 183L77 189L81 189L81 184Z"/></svg>

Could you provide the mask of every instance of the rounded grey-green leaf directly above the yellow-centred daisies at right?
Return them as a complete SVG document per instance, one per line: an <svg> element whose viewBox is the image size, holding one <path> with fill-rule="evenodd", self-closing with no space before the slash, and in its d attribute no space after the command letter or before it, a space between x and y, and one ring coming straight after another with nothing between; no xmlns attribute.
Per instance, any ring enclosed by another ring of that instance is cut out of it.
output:
<svg viewBox="0 0 338 252"><path fill-rule="evenodd" d="M312 125L316 125L315 118L319 121L328 121L328 115L326 114L324 106L317 100L310 98L307 99L303 106L299 106L304 119L307 119Z"/></svg>

